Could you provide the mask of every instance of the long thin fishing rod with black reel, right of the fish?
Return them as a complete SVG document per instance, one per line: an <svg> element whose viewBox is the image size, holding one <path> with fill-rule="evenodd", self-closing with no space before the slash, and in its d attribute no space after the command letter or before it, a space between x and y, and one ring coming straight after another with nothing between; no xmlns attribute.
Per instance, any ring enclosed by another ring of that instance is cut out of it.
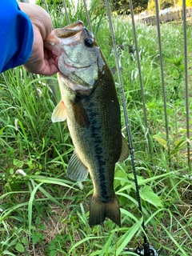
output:
<svg viewBox="0 0 192 256"><path fill-rule="evenodd" d="M130 0L130 9L131 9L131 14L133 15L132 0ZM128 143L129 143L129 147L130 147L130 158L131 158L132 168L133 168L133 172L134 172L134 183L135 183L135 188L136 188L136 196L137 196L137 200L138 200L138 210L140 211L141 216L143 216L142 201L141 201L141 197L139 194L138 178L137 178L137 173L136 173L136 169L135 169L134 146L133 146L131 134L130 134L130 125L129 125L128 114L127 114L127 110L126 110L126 99L125 99L124 89L123 89L123 85L122 85L122 75L121 75L121 70L120 70L119 61L118 61L118 50L117 50L117 46L116 46L116 42L115 42L115 38L114 38L114 28L113 28L113 24L112 24L112 20L111 20L109 0L106 0L106 10L107 10L108 18L109 18L110 33L111 33L111 37L112 37L112 41L113 41L114 55L115 55L115 60L116 60L116 65L117 65L117 70L118 70L118 80L119 80L119 85L120 85L120 90L121 90L121 95L122 95L122 106L123 106L124 118L125 118L125 122L126 122L126 133L127 133ZM132 20L133 20L133 17L132 17ZM133 23L133 26L134 26L134 23ZM135 31L135 27L134 27L134 31ZM140 74L140 77L141 77L141 74ZM149 242L147 241L146 226L145 226L144 218L142 221L142 229L144 231L143 232L143 240L144 240L143 247L142 248L137 247L136 250L134 251L134 253L138 254L138 255L144 255L144 256L158 256L157 250L155 250L154 247L150 246ZM124 250L125 251L133 251L133 250L130 250L127 248L125 248Z"/></svg>

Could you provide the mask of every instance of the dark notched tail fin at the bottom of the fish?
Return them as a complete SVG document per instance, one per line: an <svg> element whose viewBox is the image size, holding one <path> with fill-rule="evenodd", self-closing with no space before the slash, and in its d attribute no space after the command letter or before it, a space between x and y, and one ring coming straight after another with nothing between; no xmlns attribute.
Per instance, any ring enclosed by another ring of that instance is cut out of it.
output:
<svg viewBox="0 0 192 256"><path fill-rule="evenodd" d="M114 196L110 202L102 202L97 197L93 196L90 202L90 226L101 224L104 222L105 218L110 218L118 226L121 226L118 198Z"/></svg>

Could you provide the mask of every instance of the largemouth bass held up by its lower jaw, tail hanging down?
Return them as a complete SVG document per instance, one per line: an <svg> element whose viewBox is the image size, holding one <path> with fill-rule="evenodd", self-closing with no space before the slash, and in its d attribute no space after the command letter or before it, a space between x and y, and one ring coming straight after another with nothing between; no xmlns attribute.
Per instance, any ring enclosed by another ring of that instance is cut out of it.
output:
<svg viewBox="0 0 192 256"><path fill-rule="evenodd" d="M114 78L106 58L82 21L52 30L46 48L58 56L61 101L52 122L66 120L74 154L66 176L82 181L90 174L94 193L90 200L89 225L110 218L121 226L118 198L114 192L116 162L128 157L122 136L121 113Z"/></svg>

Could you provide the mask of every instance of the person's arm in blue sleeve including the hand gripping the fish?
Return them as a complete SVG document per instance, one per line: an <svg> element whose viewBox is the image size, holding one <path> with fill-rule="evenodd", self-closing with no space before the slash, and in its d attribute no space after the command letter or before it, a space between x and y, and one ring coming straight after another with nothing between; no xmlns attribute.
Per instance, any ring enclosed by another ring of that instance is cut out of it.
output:
<svg viewBox="0 0 192 256"><path fill-rule="evenodd" d="M53 29L46 10L16 0L0 0L0 7L0 73L22 64L30 73L57 73L58 57L43 44Z"/></svg>

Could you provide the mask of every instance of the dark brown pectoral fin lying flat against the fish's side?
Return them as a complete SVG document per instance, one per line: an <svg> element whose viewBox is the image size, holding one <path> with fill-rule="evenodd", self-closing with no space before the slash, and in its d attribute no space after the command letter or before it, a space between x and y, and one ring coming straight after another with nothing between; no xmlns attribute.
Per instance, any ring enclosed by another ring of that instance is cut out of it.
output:
<svg viewBox="0 0 192 256"><path fill-rule="evenodd" d="M82 102L77 99L75 102L73 102L72 107L73 107L74 118L76 122L80 126L84 128L88 128L90 126L90 120L86 114L86 110L82 106Z"/></svg>

